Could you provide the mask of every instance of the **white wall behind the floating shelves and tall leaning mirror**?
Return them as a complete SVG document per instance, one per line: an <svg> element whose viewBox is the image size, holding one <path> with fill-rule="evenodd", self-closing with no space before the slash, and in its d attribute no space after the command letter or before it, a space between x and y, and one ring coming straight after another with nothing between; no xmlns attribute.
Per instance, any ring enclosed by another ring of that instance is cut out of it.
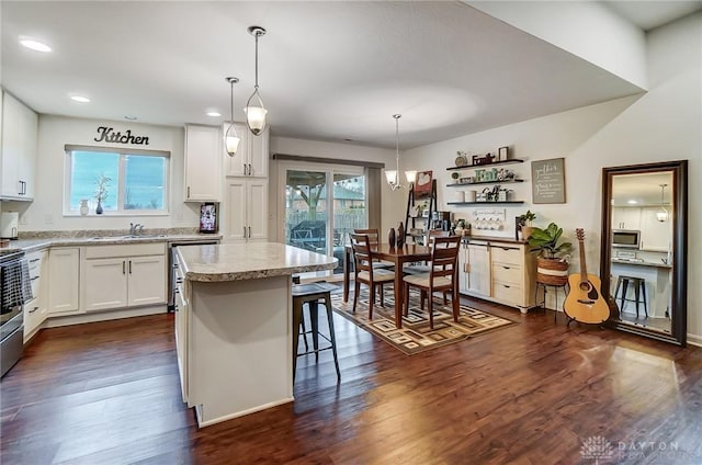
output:
<svg viewBox="0 0 702 465"><path fill-rule="evenodd" d="M529 161L565 158L566 204L509 207L508 218L531 208L535 224L554 220L573 238L576 227L586 230L588 270L599 273L601 230L601 169L661 160L689 160L689 199L702 199L702 13L655 30L648 35L646 94L631 97L531 120L407 151L408 165L431 169L439 177L440 207L453 191L446 167L457 150L472 154L511 146L514 158ZM530 178L529 162L516 168ZM531 201L530 183L518 192ZM452 208L458 216L472 209ZM702 209L689 208L688 333L702 343ZM579 266L576 262L574 266ZM577 268L576 268L577 269Z"/></svg>

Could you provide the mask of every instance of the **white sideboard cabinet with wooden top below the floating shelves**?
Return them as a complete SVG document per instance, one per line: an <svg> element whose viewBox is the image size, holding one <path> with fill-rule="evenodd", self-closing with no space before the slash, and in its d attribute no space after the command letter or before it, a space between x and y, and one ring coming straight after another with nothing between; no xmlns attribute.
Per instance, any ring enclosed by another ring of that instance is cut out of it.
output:
<svg viewBox="0 0 702 465"><path fill-rule="evenodd" d="M534 306L535 259L523 243L476 240L463 246L461 292L525 313Z"/></svg>

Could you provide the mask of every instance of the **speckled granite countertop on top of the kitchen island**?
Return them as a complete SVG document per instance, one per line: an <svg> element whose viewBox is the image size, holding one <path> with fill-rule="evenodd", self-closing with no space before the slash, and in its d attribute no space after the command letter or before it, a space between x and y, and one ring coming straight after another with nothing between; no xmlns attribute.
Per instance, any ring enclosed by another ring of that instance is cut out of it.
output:
<svg viewBox="0 0 702 465"><path fill-rule="evenodd" d="M185 280L223 282L333 270L338 260L279 242L178 248Z"/></svg>

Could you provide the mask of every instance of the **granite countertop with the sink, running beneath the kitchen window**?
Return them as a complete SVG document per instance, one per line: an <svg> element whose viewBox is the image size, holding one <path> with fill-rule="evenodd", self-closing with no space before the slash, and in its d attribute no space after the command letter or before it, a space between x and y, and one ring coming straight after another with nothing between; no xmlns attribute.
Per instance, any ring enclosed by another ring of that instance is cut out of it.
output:
<svg viewBox="0 0 702 465"><path fill-rule="evenodd" d="M49 247L80 247L80 246L106 246L106 245L127 245L144 242L176 242L176 241L199 241L199 240L220 240L220 235L204 234L144 234L140 236L82 236L82 237L41 237L41 238L22 238L11 240L9 247L0 249L0 254L10 253L22 250L24 252L33 252Z"/></svg>

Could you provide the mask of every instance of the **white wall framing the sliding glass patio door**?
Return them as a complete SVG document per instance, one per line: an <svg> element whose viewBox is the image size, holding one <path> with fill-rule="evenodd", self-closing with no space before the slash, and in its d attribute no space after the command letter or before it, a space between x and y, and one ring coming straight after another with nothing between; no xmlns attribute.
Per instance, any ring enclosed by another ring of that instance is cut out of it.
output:
<svg viewBox="0 0 702 465"><path fill-rule="evenodd" d="M319 140L305 140L294 139L290 137L271 137L270 141L271 154L286 154L297 155L304 157L319 157L319 158L332 158L338 159L339 163L343 163L347 160L353 161L372 161L374 163L385 163L388 167L395 166L395 150L388 150L383 148L363 147L353 144L336 144ZM401 162L400 162L401 163ZM282 186L276 185L278 181L278 166L271 160L270 169L270 191L269 191L269 208L271 212L271 220L269 223L269 237L271 240L278 240L276 235L276 222L275 214L278 212L279 201L282 199L280 192ZM400 165L400 169L405 169L404 165ZM383 179L385 174L383 173ZM400 202L407 202L406 191L392 192L386 183L383 183L383 203L382 203L382 230L388 230L390 227L396 227L395 222L403 222L405 219L405 207L403 206L401 215L393 208L397 199ZM403 205L404 205L403 203Z"/></svg>

